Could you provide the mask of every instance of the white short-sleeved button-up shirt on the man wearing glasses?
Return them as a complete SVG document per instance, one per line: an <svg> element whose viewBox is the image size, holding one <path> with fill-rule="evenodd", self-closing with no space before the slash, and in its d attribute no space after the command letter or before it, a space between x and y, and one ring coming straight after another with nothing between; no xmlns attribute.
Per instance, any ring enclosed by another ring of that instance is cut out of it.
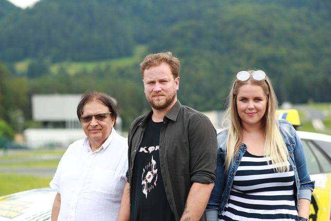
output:
<svg viewBox="0 0 331 221"><path fill-rule="evenodd" d="M72 143L50 182L61 194L58 221L115 221L127 169L128 142L114 128L94 152L87 138Z"/></svg>

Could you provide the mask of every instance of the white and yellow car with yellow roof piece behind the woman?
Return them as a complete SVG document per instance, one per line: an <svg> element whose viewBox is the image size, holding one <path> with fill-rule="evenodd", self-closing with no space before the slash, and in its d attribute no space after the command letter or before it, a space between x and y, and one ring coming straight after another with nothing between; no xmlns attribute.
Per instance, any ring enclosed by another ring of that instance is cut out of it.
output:
<svg viewBox="0 0 331 221"><path fill-rule="evenodd" d="M294 128L300 125L296 110L278 110L278 119L290 121ZM331 221L331 136L297 131L305 151L311 179L315 181L310 221Z"/></svg>

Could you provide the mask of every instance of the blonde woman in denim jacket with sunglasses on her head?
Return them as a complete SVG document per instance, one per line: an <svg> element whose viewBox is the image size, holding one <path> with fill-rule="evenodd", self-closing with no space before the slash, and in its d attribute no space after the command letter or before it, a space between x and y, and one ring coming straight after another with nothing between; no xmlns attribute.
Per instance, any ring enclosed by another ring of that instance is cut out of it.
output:
<svg viewBox="0 0 331 221"><path fill-rule="evenodd" d="M218 134L215 186L208 221L307 221L314 182L288 121L276 121L277 100L261 71L240 71Z"/></svg>

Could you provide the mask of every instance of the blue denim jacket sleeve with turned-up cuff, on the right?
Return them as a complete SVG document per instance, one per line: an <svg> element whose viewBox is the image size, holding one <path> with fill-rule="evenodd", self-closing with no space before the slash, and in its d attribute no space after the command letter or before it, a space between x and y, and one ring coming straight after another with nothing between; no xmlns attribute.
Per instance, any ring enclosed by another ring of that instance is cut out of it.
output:
<svg viewBox="0 0 331 221"><path fill-rule="evenodd" d="M294 134L295 143L296 143L293 155L300 182L299 199L311 200L315 181L312 181L310 179L302 142L292 125L291 125L291 129L292 129L292 133Z"/></svg>

